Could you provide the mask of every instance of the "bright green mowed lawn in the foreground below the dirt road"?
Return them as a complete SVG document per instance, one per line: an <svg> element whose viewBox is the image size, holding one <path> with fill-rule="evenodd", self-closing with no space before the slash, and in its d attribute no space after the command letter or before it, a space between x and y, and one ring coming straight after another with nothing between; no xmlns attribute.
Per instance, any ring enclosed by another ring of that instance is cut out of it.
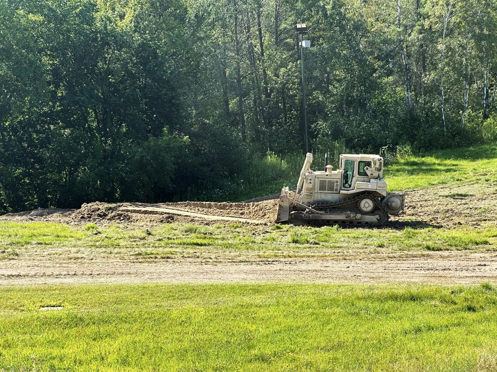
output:
<svg viewBox="0 0 497 372"><path fill-rule="evenodd" d="M0 369L496 371L496 319L488 283L3 287Z"/></svg>

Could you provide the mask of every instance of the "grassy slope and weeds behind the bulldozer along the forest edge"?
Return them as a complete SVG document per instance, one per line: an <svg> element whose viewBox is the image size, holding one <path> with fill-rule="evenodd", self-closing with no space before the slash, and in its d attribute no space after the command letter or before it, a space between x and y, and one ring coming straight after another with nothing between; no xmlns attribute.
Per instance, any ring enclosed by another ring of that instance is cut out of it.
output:
<svg viewBox="0 0 497 372"><path fill-rule="evenodd" d="M279 193L283 186L295 188L304 162L301 154L292 154L277 161L268 156L254 170L258 182L232 201L242 201L260 195ZM338 169L337 163L331 164ZM319 156L314 158L313 170L324 170ZM471 147L437 150L422 156L400 156L385 167L389 191L412 190L435 185L497 182L497 143ZM269 183L268 180L271 180ZM224 201L224 200L222 200Z"/></svg>

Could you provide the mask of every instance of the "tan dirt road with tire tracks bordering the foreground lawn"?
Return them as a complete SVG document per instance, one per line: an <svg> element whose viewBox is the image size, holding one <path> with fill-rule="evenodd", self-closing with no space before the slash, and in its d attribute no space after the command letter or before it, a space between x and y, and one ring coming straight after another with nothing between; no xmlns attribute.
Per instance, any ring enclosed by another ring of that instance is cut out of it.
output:
<svg viewBox="0 0 497 372"><path fill-rule="evenodd" d="M134 263L120 260L55 263L40 258L2 262L0 285L55 283L433 283L497 282L497 253L444 251L426 255L271 262Z"/></svg>

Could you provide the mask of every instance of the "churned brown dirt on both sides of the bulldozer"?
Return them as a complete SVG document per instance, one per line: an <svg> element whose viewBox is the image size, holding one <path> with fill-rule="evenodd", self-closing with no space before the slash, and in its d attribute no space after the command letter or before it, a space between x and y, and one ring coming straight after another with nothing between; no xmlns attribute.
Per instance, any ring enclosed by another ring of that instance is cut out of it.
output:
<svg viewBox="0 0 497 372"><path fill-rule="evenodd" d="M84 225L88 222L139 225L166 222L257 225L273 223L276 219L277 205L278 199L242 203L94 202L83 204L78 210L40 209L10 213L0 216L0 220L50 221L71 225ZM432 186L408 191L405 211L399 217L392 216L388 226L393 228L413 226L453 228L467 225L478 228L483 223L496 223L496 211L496 183Z"/></svg>

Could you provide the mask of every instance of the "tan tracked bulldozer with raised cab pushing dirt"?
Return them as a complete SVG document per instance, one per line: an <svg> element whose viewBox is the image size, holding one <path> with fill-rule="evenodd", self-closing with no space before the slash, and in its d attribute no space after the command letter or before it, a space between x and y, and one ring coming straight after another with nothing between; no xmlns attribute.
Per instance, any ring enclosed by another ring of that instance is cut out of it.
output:
<svg viewBox="0 0 497 372"><path fill-rule="evenodd" d="M404 210L405 192L387 192L383 158L372 154L342 154L333 170L325 155L325 170L312 171L306 155L297 189L283 187L276 223L304 221L383 226L389 215Z"/></svg>

